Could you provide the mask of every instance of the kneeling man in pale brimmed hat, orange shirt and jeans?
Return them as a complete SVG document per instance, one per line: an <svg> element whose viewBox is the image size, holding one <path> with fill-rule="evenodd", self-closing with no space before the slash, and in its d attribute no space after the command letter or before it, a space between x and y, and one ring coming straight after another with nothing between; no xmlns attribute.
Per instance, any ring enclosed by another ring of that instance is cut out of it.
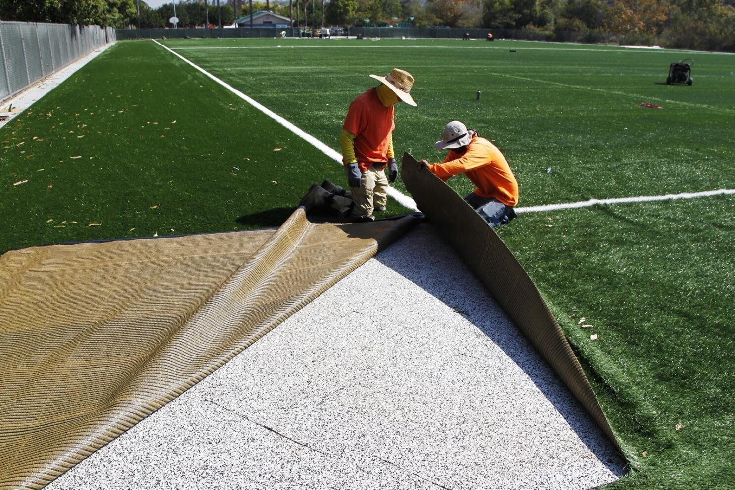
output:
<svg viewBox="0 0 735 490"><path fill-rule="evenodd" d="M444 126L437 150L450 150L442 163L421 163L442 181L464 173L477 186L465 196L470 206L484 217L491 228L509 223L516 217L518 183L505 157L490 141L467 129L459 120Z"/></svg>

